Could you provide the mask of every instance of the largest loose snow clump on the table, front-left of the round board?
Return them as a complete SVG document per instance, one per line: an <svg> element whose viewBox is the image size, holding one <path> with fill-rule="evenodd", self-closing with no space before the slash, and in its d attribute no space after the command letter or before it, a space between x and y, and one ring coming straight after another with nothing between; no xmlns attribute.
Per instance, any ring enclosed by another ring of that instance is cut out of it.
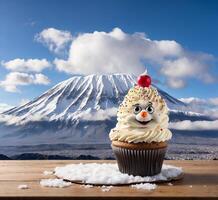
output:
<svg viewBox="0 0 218 200"><path fill-rule="evenodd" d="M42 179L40 185L43 187L63 188L71 185L71 182L66 182L63 179Z"/></svg>

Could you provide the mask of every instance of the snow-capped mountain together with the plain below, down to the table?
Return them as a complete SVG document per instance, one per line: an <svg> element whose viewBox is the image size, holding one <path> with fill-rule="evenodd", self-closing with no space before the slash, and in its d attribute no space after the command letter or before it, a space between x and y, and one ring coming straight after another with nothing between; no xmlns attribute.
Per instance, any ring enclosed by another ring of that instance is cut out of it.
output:
<svg viewBox="0 0 218 200"><path fill-rule="evenodd" d="M0 115L1 159L114 159L108 134L116 110L135 84L128 74L75 76ZM170 122L211 122L158 88ZM171 128L166 159L218 159L217 130Z"/></svg>

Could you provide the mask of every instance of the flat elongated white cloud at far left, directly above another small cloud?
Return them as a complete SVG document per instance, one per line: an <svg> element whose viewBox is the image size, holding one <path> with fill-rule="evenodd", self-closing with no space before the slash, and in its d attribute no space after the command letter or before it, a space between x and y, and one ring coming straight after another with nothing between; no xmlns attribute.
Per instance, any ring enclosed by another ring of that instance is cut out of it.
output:
<svg viewBox="0 0 218 200"><path fill-rule="evenodd" d="M41 72L51 66L46 59L20 59L16 58L8 62L1 62L1 65L10 71L16 72Z"/></svg>

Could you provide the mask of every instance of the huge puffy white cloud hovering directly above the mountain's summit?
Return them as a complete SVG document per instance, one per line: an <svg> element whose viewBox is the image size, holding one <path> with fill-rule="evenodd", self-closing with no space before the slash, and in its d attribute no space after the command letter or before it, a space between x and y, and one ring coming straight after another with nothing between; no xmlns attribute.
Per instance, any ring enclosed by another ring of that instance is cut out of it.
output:
<svg viewBox="0 0 218 200"><path fill-rule="evenodd" d="M189 78L214 82L213 60L212 55L187 51L174 40L151 40L143 33L127 34L115 28L108 33L79 34L72 40L68 59L56 58L54 64L69 74L138 75L146 61L165 76L169 87L182 88Z"/></svg>

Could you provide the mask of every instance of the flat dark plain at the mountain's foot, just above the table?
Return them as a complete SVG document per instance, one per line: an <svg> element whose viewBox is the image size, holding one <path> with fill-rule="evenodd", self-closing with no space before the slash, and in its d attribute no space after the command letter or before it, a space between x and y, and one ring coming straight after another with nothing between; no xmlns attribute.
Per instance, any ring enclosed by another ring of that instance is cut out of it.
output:
<svg viewBox="0 0 218 200"><path fill-rule="evenodd" d="M182 137L178 137L182 140ZM184 140L187 139L183 138ZM196 139L198 140L196 144ZM193 137L188 143L169 143L165 159L178 160L217 160L218 139ZM44 160L72 159L98 160L114 159L110 144L57 144L36 146L4 146L0 147L0 159L8 160Z"/></svg>

